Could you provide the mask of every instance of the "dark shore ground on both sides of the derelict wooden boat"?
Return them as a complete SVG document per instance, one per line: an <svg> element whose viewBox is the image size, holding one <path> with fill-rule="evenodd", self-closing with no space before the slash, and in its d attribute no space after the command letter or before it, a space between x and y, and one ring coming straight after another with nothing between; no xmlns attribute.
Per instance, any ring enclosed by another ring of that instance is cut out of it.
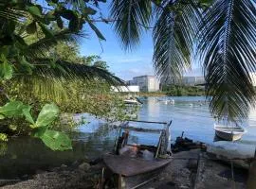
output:
<svg viewBox="0 0 256 189"><path fill-rule="evenodd" d="M204 153L204 152L203 152ZM229 163L222 163L198 157L200 149L192 149L174 154L174 160L143 189L245 189L247 170L234 168L233 177ZM42 171L28 180L7 183L3 189L68 189L99 188L102 162L73 163L52 170Z"/></svg>

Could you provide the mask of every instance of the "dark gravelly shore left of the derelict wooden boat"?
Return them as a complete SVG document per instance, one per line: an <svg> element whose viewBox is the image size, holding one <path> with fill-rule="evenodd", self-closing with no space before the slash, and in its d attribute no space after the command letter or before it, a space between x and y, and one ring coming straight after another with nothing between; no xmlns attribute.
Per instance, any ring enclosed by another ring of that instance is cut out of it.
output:
<svg viewBox="0 0 256 189"><path fill-rule="evenodd" d="M97 188L102 163L73 163L47 171L37 171L28 180L2 180L2 189L69 189ZM0 180L1 184L1 180Z"/></svg>

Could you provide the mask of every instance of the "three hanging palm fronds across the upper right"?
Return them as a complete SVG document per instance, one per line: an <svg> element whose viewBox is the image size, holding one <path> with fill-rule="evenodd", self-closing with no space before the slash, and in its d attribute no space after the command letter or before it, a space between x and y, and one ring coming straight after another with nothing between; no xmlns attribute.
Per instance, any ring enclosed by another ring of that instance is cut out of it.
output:
<svg viewBox="0 0 256 189"><path fill-rule="evenodd" d="M125 49L136 46L143 30L153 27L153 60L160 77L182 76L195 51L204 69L210 112L234 120L246 118L255 102L249 77L256 68L255 3L114 0L111 16Z"/></svg>

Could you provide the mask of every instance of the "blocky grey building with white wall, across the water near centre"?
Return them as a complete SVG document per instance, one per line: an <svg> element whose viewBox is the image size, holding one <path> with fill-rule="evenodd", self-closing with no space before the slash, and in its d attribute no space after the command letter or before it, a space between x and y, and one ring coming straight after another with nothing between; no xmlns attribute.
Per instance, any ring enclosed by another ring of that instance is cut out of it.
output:
<svg viewBox="0 0 256 189"><path fill-rule="evenodd" d="M159 91L159 81L155 76L134 77L133 80L127 81L127 85L137 85L141 92Z"/></svg>

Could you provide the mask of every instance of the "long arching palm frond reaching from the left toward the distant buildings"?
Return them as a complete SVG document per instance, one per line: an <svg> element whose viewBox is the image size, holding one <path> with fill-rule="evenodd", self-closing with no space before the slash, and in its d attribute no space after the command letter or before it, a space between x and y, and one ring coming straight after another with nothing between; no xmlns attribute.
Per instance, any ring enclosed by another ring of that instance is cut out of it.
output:
<svg viewBox="0 0 256 189"><path fill-rule="evenodd" d="M123 84L123 81L119 77L95 66L63 60L57 60L54 63L50 63L51 61L50 59L35 60L33 63L35 68L33 69L32 76L46 77L49 79L83 79L85 81L100 79L111 85Z"/></svg>

